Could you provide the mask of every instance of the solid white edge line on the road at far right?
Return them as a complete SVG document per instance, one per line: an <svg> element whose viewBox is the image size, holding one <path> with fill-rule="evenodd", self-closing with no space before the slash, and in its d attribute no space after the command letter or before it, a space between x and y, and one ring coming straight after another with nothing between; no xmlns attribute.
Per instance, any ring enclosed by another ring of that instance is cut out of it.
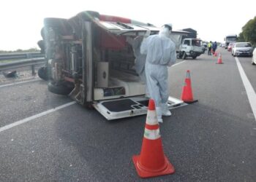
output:
<svg viewBox="0 0 256 182"><path fill-rule="evenodd" d="M238 71L240 73L241 79L244 83L244 87L247 93L247 97L249 99L249 103L252 108L252 112L255 115L255 120L256 120L256 94L255 90L252 87L252 84L249 82L249 79L247 78L246 74L244 73L244 69L241 66L241 63L239 62L238 58L236 59L236 64L238 66Z"/></svg>

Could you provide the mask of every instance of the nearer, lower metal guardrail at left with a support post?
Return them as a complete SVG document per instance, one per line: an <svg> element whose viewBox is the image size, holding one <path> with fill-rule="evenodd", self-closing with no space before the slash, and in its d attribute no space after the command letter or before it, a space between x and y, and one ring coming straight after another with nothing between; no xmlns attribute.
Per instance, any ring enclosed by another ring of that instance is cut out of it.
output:
<svg viewBox="0 0 256 182"><path fill-rule="evenodd" d="M0 71L10 70L13 68L22 68L31 66L32 74L35 74L34 66L45 63L45 58L30 58L26 60L15 60L10 63L0 63Z"/></svg>

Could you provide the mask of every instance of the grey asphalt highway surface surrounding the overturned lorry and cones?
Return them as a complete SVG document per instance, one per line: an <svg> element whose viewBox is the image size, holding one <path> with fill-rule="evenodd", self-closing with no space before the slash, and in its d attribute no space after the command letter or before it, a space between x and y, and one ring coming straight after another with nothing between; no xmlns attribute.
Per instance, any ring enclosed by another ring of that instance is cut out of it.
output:
<svg viewBox="0 0 256 182"><path fill-rule="evenodd" d="M189 70L198 102L171 110L160 124L176 173L146 181L255 181L256 66L219 51L222 65L206 53L170 68L170 95L181 97ZM109 122L39 79L1 83L0 95L0 181L145 181L132 156L140 154L146 116Z"/></svg>

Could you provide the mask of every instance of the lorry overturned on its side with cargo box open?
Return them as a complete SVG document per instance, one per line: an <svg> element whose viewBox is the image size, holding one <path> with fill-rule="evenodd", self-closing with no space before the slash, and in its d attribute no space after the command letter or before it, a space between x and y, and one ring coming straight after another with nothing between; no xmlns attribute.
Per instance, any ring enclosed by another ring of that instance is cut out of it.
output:
<svg viewBox="0 0 256 182"><path fill-rule="evenodd" d="M135 55L128 38L135 39L159 28L124 17L80 12L69 19L46 17L42 28L45 66L40 78L48 90L95 108L106 119L120 119L147 113L145 84L135 71ZM184 31L173 31L181 41ZM179 44L176 44L179 47ZM168 108L186 106L169 97Z"/></svg>

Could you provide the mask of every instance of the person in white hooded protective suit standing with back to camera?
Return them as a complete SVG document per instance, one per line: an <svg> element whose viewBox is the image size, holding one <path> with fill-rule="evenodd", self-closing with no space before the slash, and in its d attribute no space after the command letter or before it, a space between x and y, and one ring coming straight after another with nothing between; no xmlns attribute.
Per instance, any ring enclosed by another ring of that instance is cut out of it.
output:
<svg viewBox="0 0 256 182"><path fill-rule="evenodd" d="M171 31L172 25L166 24L158 35L148 36L140 46L140 53L146 54L146 82L149 95L156 104L158 122L162 122L162 115L171 115L167 108L167 66L176 62L176 46L170 40Z"/></svg>

